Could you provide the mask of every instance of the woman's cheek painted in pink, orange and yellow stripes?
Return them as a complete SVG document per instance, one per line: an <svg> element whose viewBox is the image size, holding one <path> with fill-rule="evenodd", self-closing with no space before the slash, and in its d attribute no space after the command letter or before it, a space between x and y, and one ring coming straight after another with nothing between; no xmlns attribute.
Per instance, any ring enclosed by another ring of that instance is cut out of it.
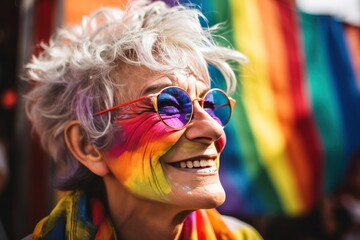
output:
<svg viewBox="0 0 360 240"><path fill-rule="evenodd" d="M121 129L107 152L107 164L115 177L133 193L153 200L166 200L171 185L159 161L181 137L156 113L142 113L119 120Z"/></svg>

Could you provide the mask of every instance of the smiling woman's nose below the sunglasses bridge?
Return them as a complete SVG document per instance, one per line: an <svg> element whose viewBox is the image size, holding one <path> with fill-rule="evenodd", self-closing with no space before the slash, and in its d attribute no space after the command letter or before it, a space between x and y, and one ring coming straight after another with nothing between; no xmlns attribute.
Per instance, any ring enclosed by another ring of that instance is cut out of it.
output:
<svg viewBox="0 0 360 240"><path fill-rule="evenodd" d="M187 139L210 145L225 135L223 127L200 106L199 101L193 102L193 108L193 118L185 131Z"/></svg>

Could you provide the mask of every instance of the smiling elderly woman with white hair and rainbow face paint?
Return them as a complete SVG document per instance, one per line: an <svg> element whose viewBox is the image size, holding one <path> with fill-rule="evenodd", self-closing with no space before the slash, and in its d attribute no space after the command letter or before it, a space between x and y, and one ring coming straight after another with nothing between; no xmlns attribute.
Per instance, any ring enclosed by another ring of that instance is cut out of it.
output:
<svg viewBox="0 0 360 240"><path fill-rule="evenodd" d="M33 239L259 239L221 216L224 127L235 75L201 13L163 2L105 8L33 57L26 109L69 191Z"/></svg>

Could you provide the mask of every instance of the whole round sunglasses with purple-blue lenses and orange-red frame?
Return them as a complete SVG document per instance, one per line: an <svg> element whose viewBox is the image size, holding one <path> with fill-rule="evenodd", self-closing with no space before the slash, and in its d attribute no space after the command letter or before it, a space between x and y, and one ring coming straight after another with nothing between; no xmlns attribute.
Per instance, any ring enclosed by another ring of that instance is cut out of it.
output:
<svg viewBox="0 0 360 240"><path fill-rule="evenodd" d="M182 88L171 86L163 88L160 92L137 98L120 105L95 113L95 116L125 107L145 99L150 99L160 120L168 127L176 130L185 128L194 114L194 101L222 127L230 120L233 106L236 101L224 91L213 88L207 91L202 98L191 99L190 95Z"/></svg>

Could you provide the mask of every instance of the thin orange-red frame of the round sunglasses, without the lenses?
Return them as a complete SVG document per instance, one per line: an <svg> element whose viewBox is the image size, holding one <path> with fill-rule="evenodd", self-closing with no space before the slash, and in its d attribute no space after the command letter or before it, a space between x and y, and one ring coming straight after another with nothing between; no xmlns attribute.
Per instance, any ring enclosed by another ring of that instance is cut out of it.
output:
<svg viewBox="0 0 360 240"><path fill-rule="evenodd" d="M182 126L181 128L174 128L174 127L172 127L172 126L169 126L169 125L162 119L162 117L160 116L160 113L159 113L158 104L157 104L157 102L158 102L158 97L160 96L160 94L161 94L163 91L165 91L166 89L169 89L169 88L178 88L178 89L180 89L181 91L184 91L184 92L189 96L189 99L191 100L192 108L191 108L191 115L190 115L189 121L188 121L184 126ZM233 99L233 98L231 98L231 97L229 97L229 95L226 94L226 92L224 92L223 90L221 90L221 89L219 89L219 88L212 88L212 89L209 89L209 90L204 94L204 96L203 96L202 98L196 97L196 98L194 98L194 99L191 99L191 96L190 96L184 89L182 89L182 88L180 88L180 87L177 87L177 86L165 87L165 88L161 89L158 93L153 93L153 94L149 94L149 95L146 95L146 96L142 96L142 97L139 97L139 98L137 98L137 99L134 99L134 100L131 100L131 101L128 101L128 102L125 102L125 103L122 103L122 104L119 104L119 105L116 105L116 106L107 108L107 109L105 109L105 110L102 110L102 111L99 111L99 112L95 113L94 116L100 116L100 115L102 115L102 114L104 114L104 113L111 112L111 111L113 111L113 110L116 110L116 109L125 107L125 106L130 105L130 104L133 104L133 103L137 103L137 102L140 102L140 101L143 101L143 100L149 98L149 99L151 100L151 103L152 103L153 106L154 106L154 109L155 109L158 117L159 117L160 120L164 123L164 125L166 125L167 127L171 128L171 129L174 129L174 130L181 130L181 129L187 127L187 125L189 125L190 122L191 122L191 119L192 119L192 117L193 117L193 115L194 115L194 102L195 102L195 101L198 101L199 104L200 104L200 106L204 109L204 99L206 98L206 96L207 96L209 93L211 93L211 92L213 92L213 91L219 91L219 92L221 92L222 94L224 94L224 95L227 97L228 102L229 102L229 105L230 105L230 116L229 116L229 120L230 120L231 115L232 115L232 110L233 110L233 108L234 108L234 105L235 105L235 103L236 103L236 100ZM224 127L226 127L226 125L227 125L228 123L229 123L229 121L227 121L226 124L224 124L224 125L221 125L221 124L220 124L220 125L224 128Z"/></svg>

